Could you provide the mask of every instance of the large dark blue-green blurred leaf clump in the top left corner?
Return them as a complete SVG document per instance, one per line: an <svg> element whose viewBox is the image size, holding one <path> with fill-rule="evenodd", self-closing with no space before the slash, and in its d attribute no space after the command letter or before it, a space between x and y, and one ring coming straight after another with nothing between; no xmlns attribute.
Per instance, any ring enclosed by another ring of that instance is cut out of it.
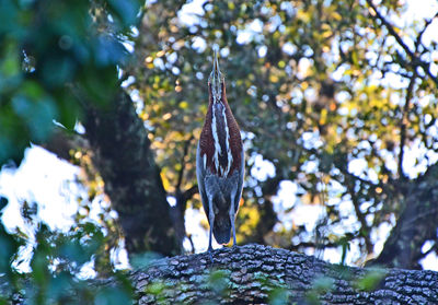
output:
<svg viewBox="0 0 438 305"><path fill-rule="evenodd" d="M0 164L111 101L140 3L0 1Z"/></svg>

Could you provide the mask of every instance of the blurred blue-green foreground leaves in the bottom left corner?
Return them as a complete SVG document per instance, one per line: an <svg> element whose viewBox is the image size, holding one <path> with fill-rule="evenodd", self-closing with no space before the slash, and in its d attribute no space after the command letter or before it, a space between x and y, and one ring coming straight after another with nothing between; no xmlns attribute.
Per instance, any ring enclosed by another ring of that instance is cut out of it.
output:
<svg viewBox="0 0 438 305"><path fill-rule="evenodd" d="M110 263L105 266L106 272L93 271L97 270L95 263L106 239L102 228L90 222L67 233L38 223L33 236L8 232L1 225L1 304L128 304L134 292L123 271L113 271ZM31 257L25 247L32 247ZM23 263L28 263L31 273L23 272ZM112 286L88 280L101 275L113 277Z"/></svg>

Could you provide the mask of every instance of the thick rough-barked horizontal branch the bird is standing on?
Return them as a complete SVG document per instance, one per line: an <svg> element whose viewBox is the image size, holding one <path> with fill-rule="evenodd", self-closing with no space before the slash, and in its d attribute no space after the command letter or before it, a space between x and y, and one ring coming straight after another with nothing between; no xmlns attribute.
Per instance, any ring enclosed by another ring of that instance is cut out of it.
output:
<svg viewBox="0 0 438 305"><path fill-rule="evenodd" d="M136 304L438 304L438 273L331 265L261 245L153 261Z"/></svg>

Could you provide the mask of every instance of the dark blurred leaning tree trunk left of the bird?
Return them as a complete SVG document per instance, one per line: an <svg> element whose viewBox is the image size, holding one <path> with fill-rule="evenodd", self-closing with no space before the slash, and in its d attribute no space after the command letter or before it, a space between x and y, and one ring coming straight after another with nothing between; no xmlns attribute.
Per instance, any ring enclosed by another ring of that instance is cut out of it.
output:
<svg viewBox="0 0 438 305"><path fill-rule="evenodd" d="M93 163L118 213L128 253L177 254L160 171L129 95L120 91L107 108L87 109L84 126Z"/></svg>

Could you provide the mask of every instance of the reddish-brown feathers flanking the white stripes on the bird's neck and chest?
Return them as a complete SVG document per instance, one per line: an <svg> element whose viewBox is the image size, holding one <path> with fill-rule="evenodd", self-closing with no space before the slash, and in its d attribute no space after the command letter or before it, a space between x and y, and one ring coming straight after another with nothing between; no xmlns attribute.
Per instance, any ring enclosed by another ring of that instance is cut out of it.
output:
<svg viewBox="0 0 438 305"><path fill-rule="evenodd" d="M211 86L210 83L208 83L208 93L209 93L209 102L208 102L208 110L205 119L205 124L203 127L203 131L200 132L200 139L199 139L199 150L200 150L200 157L204 156L204 154L207 154L207 167L214 174L218 174L214 164L214 154L215 154L215 140L212 137L212 130L211 130L211 121L212 121L212 96L211 96ZM239 125L234 119L234 116L232 115L232 112L230 109L230 106L228 105L227 101L227 94L226 94L226 85L224 82L222 83L222 98L221 103L223 103L226 107L226 118L227 118L227 125L228 125L228 130L230 134L230 148L231 148L231 154L233 157L231 168L228 173L228 176L230 176L234 169L240 168L241 163L242 163L242 140L240 137L240 129ZM221 164L222 167L227 167L227 164Z"/></svg>

